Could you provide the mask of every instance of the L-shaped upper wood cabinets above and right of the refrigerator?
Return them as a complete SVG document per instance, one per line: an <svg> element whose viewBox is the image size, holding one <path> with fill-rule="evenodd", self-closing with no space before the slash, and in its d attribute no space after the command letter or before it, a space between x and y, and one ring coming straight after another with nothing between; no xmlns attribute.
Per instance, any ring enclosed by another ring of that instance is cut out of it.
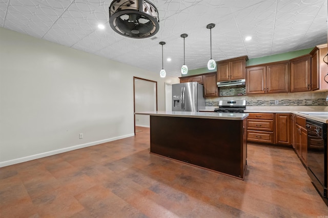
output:
<svg viewBox="0 0 328 218"><path fill-rule="evenodd" d="M207 74L179 77L180 83L198 82L203 84L204 97L218 96L218 88L216 85L216 72Z"/></svg>

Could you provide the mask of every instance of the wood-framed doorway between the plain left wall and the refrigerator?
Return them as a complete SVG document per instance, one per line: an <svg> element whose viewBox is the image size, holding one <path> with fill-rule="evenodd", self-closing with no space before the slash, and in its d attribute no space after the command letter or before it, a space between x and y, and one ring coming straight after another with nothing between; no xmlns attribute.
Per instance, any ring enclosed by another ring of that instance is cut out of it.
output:
<svg viewBox="0 0 328 218"><path fill-rule="evenodd" d="M133 77L134 112L157 111L157 82ZM149 115L134 115L134 135L137 127L150 127Z"/></svg>

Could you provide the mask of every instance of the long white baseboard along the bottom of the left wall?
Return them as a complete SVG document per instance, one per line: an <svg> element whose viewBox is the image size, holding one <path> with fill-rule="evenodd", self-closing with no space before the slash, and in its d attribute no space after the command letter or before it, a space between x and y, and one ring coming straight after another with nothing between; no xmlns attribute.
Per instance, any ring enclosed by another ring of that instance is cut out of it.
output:
<svg viewBox="0 0 328 218"><path fill-rule="evenodd" d="M85 143L85 144L78 144L76 146L72 146L72 147L68 147L68 148L64 148L64 149L58 149L58 150L54 150L54 151L50 151L50 152L44 152L44 153L40 153L40 154L35 154L35 155L27 156L27 157L21 157L21 158L17 158L17 159L2 161L2 162L0 162L0 167L9 166L9 165L13 165L16 163L23 163L23 162L35 160L38 158L43 158L43 157L48 157L48 156L55 155L55 154L73 151L76 149L82 149L82 148L86 148L86 147L90 147L90 146L95 146L97 144L115 141L115 140L122 139L122 138L128 138L131 136L134 136L134 133L128 134L128 135L122 135L122 136L118 136L118 137L114 137L114 138L99 140L99 141L93 141L93 142L89 142L89 143Z"/></svg>

